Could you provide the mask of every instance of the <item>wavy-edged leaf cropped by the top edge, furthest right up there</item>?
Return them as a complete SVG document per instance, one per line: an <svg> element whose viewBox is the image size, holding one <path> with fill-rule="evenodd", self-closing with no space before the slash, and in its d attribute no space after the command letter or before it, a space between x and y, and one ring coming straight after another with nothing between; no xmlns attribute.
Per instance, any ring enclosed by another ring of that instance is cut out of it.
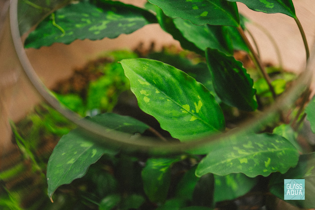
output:
<svg viewBox="0 0 315 210"><path fill-rule="evenodd" d="M296 18L292 0L226 0L229 2L242 2L249 9L264 13L283 13Z"/></svg>

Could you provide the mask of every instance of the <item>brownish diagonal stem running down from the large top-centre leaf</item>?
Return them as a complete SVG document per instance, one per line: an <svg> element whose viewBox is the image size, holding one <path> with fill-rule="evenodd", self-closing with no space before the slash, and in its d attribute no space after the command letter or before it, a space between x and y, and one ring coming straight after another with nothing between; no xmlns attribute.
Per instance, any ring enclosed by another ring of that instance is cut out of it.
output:
<svg viewBox="0 0 315 210"><path fill-rule="evenodd" d="M275 90L273 89L273 87L271 85L271 79L270 79L269 75L267 74L266 70L264 69L264 67L262 66L260 59L258 58L257 54L254 51L253 46L250 44L250 42L249 42L248 38L246 37L242 27L238 26L237 29L238 29L238 32L240 33L240 35L242 36L242 38L244 39L247 47L249 48L249 51L251 52L251 57L252 57L255 65L261 71L263 77L265 78L265 80L269 86L270 92L272 93L272 98L276 99L277 96L276 96Z"/></svg>

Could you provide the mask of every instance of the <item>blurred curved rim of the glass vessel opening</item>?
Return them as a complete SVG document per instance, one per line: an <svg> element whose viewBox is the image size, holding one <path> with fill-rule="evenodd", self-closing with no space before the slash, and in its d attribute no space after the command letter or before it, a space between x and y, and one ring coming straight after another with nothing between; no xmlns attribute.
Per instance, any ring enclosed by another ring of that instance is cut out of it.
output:
<svg viewBox="0 0 315 210"><path fill-rule="evenodd" d="M64 2L65 1L61 0L54 1L54 3L56 4ZM18 21L19 18L21 18L21 16L18 16L18 0L11 0L10 25L14 47L28 79L37 90L37 92L54 109L56 109L66 118L77 124L85 132L88 132L90 135L94 135L95 143L105 148L118 147L129 153L149 153L151 155L169 155L170 153L183 153L187 150L198 150L198 148L209 146L209 144L213 143L213 141L220 141L224 139L228 140L229 138L241 136L244 133L249 132L250 130L255 131L264 126L266 123L270 123L273 120L274 116L278 113L278 111L288 109L295 102L295 100L300 97L301 93L309 87L312 78L312 69L315 68L315 55L314 50L312 50L312 54L307 64L307 67L298 76L295 84L292 85L291 88L289 88L283 95L281 95L273 105L263 111L259 116L256 116L253 119L243 123L239 129L233 129L228 133L213 135L203 139L195 139L193 141L184 143L162 143L160 141L146 137L140 137L136 141L131 141L129 134L117 131L106 132L105 127L100 126L99 124L96 124L94 122L82 119L75 112L70 111L60 105L59 101L49 93L49 90L38 78L26 56L20 37L20 23ZM33 17L32 20L35 20L35 18Z"/></svg>

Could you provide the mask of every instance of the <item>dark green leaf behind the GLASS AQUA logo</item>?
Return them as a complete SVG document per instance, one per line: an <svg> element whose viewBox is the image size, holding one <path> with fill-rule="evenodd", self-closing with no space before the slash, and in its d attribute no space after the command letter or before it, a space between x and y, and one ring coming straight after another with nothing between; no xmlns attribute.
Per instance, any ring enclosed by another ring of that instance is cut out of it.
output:
<svg viewBox="0 0 315 210"><path fill-rule="evenodd" d="M287 173L275 173L269 182L270 192L280 199L284 199L284 179L305 179L305 200L285 200L300 208L315 208L315 153L301 155L296 167Z"/></svg>

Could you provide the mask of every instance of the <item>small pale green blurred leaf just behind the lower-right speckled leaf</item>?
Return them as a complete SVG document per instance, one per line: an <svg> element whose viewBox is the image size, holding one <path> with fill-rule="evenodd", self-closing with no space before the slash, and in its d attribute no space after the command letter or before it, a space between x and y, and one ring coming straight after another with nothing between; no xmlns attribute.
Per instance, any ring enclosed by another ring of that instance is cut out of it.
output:
<svg viewBox="0 0 315 210"><path fill-rule="evenodd" d="M279 125L278 127L273 129L272 133L286 138L289 142L291 142L292 145L295 146L297 150L302 151L301 146L297 143L296 140L298 134L293 130L293 128L290 125L287 124Z"/></svg>

